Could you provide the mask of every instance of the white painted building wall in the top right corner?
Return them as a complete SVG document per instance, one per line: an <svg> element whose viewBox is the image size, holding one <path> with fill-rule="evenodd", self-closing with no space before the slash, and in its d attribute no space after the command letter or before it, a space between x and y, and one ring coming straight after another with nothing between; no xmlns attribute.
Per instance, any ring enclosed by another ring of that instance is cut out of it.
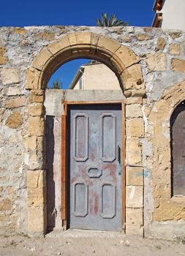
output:
<svg viewBox="0 0 185 256"><path fill-rule="evenodd" d="M185 0L165 0L162 29L185 30Z"/></svg>

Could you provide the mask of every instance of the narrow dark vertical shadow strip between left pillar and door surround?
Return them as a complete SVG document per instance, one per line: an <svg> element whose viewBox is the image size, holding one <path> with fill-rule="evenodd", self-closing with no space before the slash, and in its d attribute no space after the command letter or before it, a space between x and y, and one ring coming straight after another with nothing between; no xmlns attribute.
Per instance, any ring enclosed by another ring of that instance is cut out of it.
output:
<svg viewBox="0 0 185 256"><path fill-rule="evenodd" d="M47 222L48 231L56 226L56 206L55 206L55 181L53 177L54 162L54 116L46 116L46 168L47 168Z"/></svg>

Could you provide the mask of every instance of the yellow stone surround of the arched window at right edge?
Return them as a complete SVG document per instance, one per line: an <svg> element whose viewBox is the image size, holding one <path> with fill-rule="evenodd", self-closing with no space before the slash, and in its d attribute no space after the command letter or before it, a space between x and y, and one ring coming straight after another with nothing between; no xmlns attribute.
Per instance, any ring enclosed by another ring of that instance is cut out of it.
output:
<svg viewBox="0 0 185 256"><path fill-rule="evenodd" d="M148 116L148 129L153 154L152 188L154 221L185 220L185 197L171 195L170 116L176 106L185 99L185 80L167 89Z"/></svg>

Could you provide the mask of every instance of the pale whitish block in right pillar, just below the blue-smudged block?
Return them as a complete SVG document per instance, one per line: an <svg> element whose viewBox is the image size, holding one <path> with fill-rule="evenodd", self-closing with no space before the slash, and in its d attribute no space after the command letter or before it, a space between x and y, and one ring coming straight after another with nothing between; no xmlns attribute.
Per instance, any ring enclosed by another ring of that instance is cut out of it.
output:
<svg viewBox="0 0 185 256"><path fill-rule="evenodd" d="M143 208L143 186L126 187L126 207Z"/></svg>

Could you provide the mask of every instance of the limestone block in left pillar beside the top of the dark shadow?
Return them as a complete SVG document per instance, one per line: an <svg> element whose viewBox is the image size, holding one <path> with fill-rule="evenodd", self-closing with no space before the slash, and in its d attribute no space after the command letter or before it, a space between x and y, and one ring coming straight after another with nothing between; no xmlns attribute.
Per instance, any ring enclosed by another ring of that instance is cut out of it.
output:
<svg viewBox="0 0 185 256"><path fill-rule="evenodd" d="M43 136L45 134L45 118L39 116L29 117L29 136Z"/></svg>

